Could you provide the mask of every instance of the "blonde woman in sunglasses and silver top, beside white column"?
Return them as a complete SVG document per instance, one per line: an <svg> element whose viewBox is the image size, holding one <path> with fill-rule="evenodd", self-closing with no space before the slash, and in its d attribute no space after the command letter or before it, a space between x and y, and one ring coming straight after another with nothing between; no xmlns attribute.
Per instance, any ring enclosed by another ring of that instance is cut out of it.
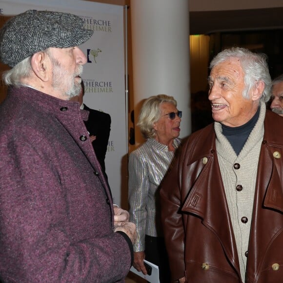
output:
<svg viewBox="0 0 283 283"><path fill-rule="evenodd" d="M172 96L160 94L142 105L138 126L146 142L129 157L130 221L137 226L133 266L147 274L143 260L159 266L160 282L170 271L160 223L159 186L181 141L182 111Z"/></svg>

